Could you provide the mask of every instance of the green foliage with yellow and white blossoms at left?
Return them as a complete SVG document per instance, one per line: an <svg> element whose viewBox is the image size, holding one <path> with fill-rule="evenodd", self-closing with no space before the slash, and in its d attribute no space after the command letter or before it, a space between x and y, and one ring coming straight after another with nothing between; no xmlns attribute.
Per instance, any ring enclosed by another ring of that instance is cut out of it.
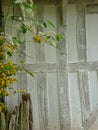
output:
<svg viewBox="0 0 98 130"><path fill-rule="evenodd" d="M33 16L34 4L31 1L15 0L13 3L14 8L21 9L21 16L10 16L10 22L16 22L20 26L20 31L24 35L29 31L32 34L32 43L48 44L57 47L57 42L62 39L61 34L57 34L54 31L44 30L51 26L55 28L55 25L51 21L36 21ZM13 93L25 93L25 90L14 90L14 82L17 81L15 77L18 71L26 71L31 76L33 74L21 68L11 61L11 57L18 51L23 41L19 40L17 36L13 36L1 31L0 35L0 99L5 96L10 96L9 89L13 89ZM15 78L14 78L15 77ZM0 112L7 110L7 106L0 102Z"/></svg>

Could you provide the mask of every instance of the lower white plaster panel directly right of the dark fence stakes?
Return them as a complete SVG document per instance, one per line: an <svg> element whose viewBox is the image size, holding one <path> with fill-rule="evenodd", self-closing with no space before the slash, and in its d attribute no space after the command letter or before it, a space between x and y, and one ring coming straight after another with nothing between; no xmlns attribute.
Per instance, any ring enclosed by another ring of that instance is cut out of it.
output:
<svg viewBox="0 0 98 130"><path fill-rule="evenodd" d="M31 95L32 101L32 110L33 110L33 129L39 130L39 109L38 109L38 93L37 93L37 82L36 75L31 77L27 75L27 91Z"/></svg>

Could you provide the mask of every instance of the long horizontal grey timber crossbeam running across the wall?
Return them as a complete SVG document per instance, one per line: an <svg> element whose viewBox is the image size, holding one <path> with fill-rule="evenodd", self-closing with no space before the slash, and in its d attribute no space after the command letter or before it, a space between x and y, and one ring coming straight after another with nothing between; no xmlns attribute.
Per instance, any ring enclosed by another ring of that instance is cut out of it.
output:
<svg viewBox="0 0 98 130"><path fill-rule="evenodd" d="M57 63L35 63L35 64L25 64L26 69L33 72L47 72L53 73L58 70ZM82 69L85 70L98 70L98 62L78 62L78 63L69 63L68 68L63 63L63 69L69 69L69 71L79 71Z"/></svg>

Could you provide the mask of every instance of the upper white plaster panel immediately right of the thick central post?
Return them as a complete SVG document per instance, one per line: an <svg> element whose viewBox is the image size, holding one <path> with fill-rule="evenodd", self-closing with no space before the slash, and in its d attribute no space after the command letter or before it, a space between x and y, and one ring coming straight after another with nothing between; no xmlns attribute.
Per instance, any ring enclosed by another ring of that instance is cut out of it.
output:
<svg viewBox="0 0 98 130"><path fill-rule="evenodd" d="M77 62L77 43L76 43L76 6L68 5L67 8L67 45L68 62Z"/></svg>

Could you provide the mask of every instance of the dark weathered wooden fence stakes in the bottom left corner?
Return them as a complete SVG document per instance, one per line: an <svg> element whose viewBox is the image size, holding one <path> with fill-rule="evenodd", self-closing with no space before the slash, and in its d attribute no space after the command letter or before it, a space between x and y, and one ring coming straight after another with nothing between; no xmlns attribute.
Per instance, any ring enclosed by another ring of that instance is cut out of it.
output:
<svg viewBox="0 0 98 130"><path fill-rule="evenodd" d="M0 130L33 130L30 94L22 95L22 102L10 113L0 113Z"/></svg>

